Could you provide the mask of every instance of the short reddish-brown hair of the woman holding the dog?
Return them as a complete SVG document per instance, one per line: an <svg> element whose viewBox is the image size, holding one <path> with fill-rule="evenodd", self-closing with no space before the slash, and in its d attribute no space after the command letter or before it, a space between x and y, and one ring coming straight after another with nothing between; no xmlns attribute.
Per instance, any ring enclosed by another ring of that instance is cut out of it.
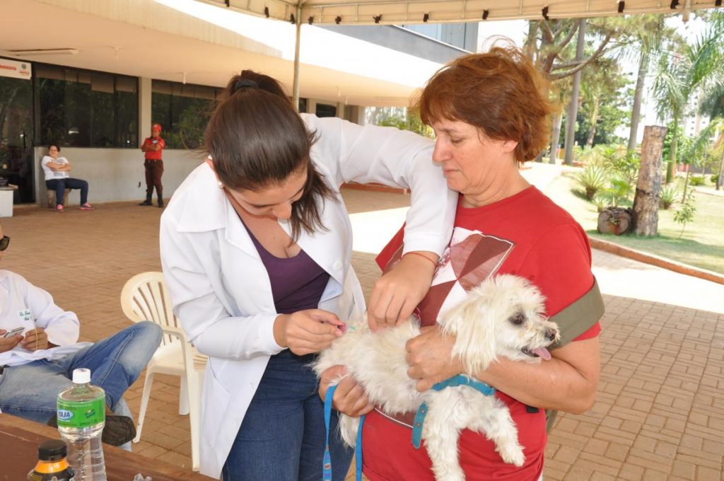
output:
<svg viewBox="0 0 724 481"><path fill-rule="evenodd" d="M550 81L515 46L459 57L438 70L416 107L427 125L459 120L489 138L518 142L515 159L534 159L550 138Z"/></svg>

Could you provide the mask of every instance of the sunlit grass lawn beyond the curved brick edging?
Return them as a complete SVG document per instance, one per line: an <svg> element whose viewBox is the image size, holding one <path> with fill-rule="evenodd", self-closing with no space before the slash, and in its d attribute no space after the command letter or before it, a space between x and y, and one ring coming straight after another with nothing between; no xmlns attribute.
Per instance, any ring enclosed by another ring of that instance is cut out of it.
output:
<svg viewBox="0 0 724 481"><path fill-rule="evenodd" d="M596 206L586 201L576 183L576 173L563 172L547 186L545 194L570 212L590 237L724 274L724 196L697 192L694 222L686 225L681 238L681 224L674 222L677 204L659 211L658 235L654 237L599 234Z"/></svg>

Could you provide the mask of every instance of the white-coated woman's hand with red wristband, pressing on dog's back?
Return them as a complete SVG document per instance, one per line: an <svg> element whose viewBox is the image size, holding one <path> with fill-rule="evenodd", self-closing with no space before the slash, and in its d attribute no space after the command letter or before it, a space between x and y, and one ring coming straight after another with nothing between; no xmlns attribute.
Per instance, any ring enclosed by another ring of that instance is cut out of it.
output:
<svg viewBox="0 0 724 481"><path fill-rule="evenodd" d="M430 290L437 267L437 254L408 252L400 262L374 283L367 308L369 328L373 331L408 319Z"/></svg>

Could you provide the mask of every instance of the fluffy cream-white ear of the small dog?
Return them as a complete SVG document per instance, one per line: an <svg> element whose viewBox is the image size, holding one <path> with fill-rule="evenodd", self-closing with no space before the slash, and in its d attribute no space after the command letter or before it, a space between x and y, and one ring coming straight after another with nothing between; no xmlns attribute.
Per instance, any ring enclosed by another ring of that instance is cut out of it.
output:
<svg viewBox="0 0 724 481"><path fill-rule="evenodd" d="M442 331L456 336L452 356L463 361L466 372L471 375L484 371L497 359L494 319L485 312L486 308L487 303L473 290L463 302L445 313L442 322Z"/></svg>

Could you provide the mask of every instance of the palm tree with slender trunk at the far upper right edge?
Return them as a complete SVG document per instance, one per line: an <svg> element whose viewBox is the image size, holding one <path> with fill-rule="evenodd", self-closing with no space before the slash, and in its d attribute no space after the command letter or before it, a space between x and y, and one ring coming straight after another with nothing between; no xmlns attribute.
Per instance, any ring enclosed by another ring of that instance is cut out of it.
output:
<svg viewBox="0 0 724 481"><path fill-rule="evenodd" d="M683 44L678 51L662 55L654 80L654 96L660 118L671 117L675 126L686 113L689 98L697 89L720 82L724 75L724 14L715 13L707 30L692 44ZM673 47L673 46L672 46ZM673 180L677 159L678 133L673 130L666 182Z"/></svg>

